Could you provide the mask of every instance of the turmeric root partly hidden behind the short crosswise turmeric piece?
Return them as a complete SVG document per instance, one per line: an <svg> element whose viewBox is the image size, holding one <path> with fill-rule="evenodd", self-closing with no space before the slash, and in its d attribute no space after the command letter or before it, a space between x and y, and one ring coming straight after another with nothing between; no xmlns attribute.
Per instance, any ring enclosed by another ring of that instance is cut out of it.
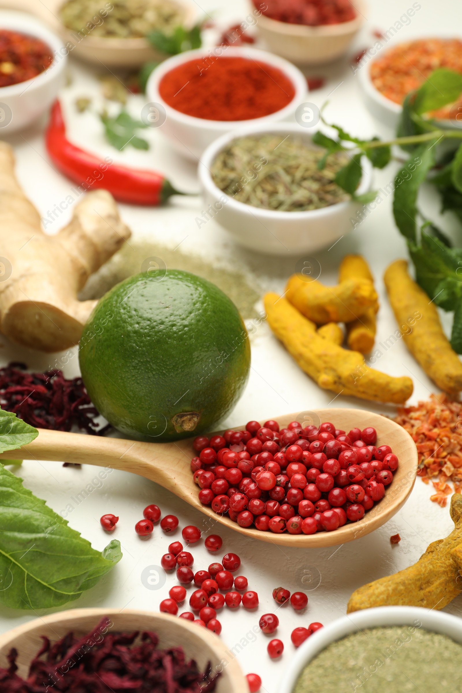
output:
<svg viewBox="0 0 462 693"><path fill-rule="evenodd" d="M373 276L368 264L361 255L346 255L339 267L339 283L348 279L366 279L373 284ZM376 321L375 315L379 304L375 301L373 306L366 308L365 312L346 324L346 343L353 351L369 353L375 342Z"/></svg>

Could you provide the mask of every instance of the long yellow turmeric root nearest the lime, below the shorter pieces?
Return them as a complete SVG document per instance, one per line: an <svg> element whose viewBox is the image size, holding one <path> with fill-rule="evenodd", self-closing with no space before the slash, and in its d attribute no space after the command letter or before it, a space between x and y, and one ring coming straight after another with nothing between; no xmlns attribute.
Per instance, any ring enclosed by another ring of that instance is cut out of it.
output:
<svg viewBox="0 0 462 693"><path fill-rule="evenodd" d="M277 294L267 294L264 303L272 331L319 387L337 394L396 404L404 403L411 396L411 378L393 378L369 368L362 354L342 349L321 337L313 322Z"/></svg>

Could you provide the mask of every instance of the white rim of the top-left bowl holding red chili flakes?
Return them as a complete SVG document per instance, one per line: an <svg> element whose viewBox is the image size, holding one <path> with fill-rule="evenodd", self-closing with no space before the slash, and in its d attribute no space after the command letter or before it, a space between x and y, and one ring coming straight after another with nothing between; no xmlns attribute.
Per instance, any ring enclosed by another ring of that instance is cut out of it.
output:
<svg viewBox="0 0 462 693"><path fill-rule="evenodd" d="M2 28L14 29L19 33L23 33L29 36L34 36L39 38L53 52L53 62L49 65L46 70L39 73L39 75L30 78L30 80L24 80L24 82L17 82L15 85L9 85L8 87L0 87L0 99L8 96L17 96L17 94L22 94L26 91L28 85L31 82L35 82L35 89L40 87L46 82L53 79L55 76L55 68L62 62L66 63L66 55L63 55L60 61L56 60L56 53L64 48L64 44L59 36L57 36L51 29L42 24L42 21L33 17L32 15L27 15L26 12L16 12L15 10L1 10L0 9L0 23Z"/></svg>

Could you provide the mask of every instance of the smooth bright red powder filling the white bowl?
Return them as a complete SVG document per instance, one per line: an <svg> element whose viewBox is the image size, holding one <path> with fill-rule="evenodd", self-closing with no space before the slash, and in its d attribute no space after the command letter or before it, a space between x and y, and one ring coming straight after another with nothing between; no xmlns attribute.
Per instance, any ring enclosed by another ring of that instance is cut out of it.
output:
<svg viewBox="0 0 462 693"><path fill-rule="evenodd" d="M287 106L295 87L285 74L248 58L190 60L170 70L159 84L169 106L209 121L247 121Z"/></svg>

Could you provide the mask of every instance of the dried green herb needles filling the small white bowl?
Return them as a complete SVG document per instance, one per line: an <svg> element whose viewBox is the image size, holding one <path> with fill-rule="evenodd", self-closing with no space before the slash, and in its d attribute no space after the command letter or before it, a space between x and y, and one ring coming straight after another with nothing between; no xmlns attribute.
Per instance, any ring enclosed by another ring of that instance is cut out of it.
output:
<svg viewBox="0 0 462 693"><path fill-rule="evenodd" d="M335 182L350 160L344 152L326 157L326 150L301 138L281 134L235 139L213 161L215 185L234 200L277 211L307 211L350 199Z"/></svg>

